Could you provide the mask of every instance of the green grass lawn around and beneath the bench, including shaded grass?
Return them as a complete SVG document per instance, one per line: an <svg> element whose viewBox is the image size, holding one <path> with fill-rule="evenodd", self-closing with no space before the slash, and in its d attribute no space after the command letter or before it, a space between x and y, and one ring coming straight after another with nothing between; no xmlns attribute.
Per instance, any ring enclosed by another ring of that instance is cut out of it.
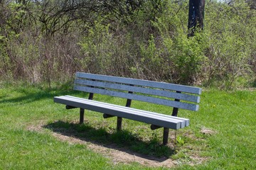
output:
<svg viewBox="0 0 256 170"><path fill-rule="evenodd" d="M174 169L256 169L256 91L204 90L198 112L180 110L191 120L188 128L170 132L168 146L161 145L162 130L124 120L121 132L115 118L87 111L79 125L79 111L65 110L53 103L53 96L84 96L66 88L43 89L32 86L3 86L0 89L0 169L165 169L137 163L114 164L109 157L94 152L86 144L59 140L53 132L86 139L97 145L154 157L168 157ZM95 96L99 101L124 100ZM133 107L169 113L170 108L134 102ZM30 127L41 130L30 130ZM197 164L198 160L201 164ZM193 166L192 166L193 164Z"/></svg>

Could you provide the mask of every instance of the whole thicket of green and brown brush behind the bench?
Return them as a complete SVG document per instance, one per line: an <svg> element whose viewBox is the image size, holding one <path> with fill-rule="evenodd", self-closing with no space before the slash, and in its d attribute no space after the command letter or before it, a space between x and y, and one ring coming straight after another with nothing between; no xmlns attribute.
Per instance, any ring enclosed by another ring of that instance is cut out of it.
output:
<svg viewBox="0 0 256 170"><path fill-rule="evenodd" d="M76 71L222 89L255 81L251 1L207 1L192 38L188 1L72 2L0 2L1 75L49 87Z"/></svg>

